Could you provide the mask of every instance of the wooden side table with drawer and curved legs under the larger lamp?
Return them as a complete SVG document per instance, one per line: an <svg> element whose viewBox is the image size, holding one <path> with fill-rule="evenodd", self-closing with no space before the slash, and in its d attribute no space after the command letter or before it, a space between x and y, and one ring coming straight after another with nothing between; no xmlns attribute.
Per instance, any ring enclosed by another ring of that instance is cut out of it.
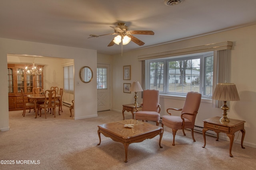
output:
<svg viewBox="0 0 256 170"><path fill-rule="evenodd" d="M204 121L204 129L203 129L203 137L204 137L204 146L206 145L206 138L205 138L205 133L208 130L212 130L217 133L217 139L216 141L219 140L219 133L226 133L227 136L230 139L230 146L229 146L229 156L233 157L231 154L232 150L232 145L234 141L234 133L237 131L242 132L242 139L241 139L241 147L244 149L245 147L243 146L244 142L244 136L245 136L245 130L244 130L244 123L245 121L242 120L236 120L236 119L230 119L230 122L222 122L220 121L220 117L212 117L210 119L203 120Z"/></svg>

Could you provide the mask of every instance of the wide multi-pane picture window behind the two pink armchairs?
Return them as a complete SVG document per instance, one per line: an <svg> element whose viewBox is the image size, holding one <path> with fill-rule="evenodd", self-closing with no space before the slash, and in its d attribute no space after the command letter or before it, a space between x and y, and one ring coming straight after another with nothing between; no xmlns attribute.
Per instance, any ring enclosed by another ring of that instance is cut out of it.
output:
<svg viewBox="0 0 256 170"><path fill-rule="evenodd" d="M213 52L146 60L146 89L160 94L212 96Z"/></svg>

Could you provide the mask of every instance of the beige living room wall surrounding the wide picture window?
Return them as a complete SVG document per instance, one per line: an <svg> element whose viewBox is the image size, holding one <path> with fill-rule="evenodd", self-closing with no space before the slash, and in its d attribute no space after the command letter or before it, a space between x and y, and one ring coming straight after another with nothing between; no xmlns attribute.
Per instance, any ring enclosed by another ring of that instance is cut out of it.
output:
<svg viewBox="0 0 256 170"><path fill-rule="evenodd" d="M160 53L175 49L184 49L196 47L211 43L232 41L231 50L231 75L230 82L235 83L240 96L240 101L230 102L228 117L246 121L246 135L244 145L256 148L256 112L254 104L256 102L256 25L206 35L184 41L168 43L155 47L145 48L137 51L124 53L122 56L114 55L112 60L113 68L113 103L112 109L121 112L122 104L134 103L134 93L123 93L123 83L132 83L134 80L141 82L141 62L137 56L152 53ZM154 35L156 36L156 35ZM131 42L132 43L132 42ZM146 45L146 44L145 44ZM124 65L131 65L131 80L123 80L122 69ZM138 102L142 102L141 94L138 93ZM184 98L175 98L171 96L160 96L161 115L166 115L168 107L182 107ZM174 113L178 115L179 113ZM196 125L203 126L203 120L206 118L222 116L222 110L213 108L211 100L203 99L198 111ZM222 139L228 140L225 134L220 134ZM238 133L236 133L237 137ZM240 143L241 133L236 141Z"/></svg>

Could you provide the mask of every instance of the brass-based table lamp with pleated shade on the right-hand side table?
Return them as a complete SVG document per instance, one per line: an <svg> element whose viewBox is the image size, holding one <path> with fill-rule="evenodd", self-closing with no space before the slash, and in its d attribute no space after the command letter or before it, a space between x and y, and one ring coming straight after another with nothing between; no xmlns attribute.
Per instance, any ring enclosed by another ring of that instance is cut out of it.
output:
<svg viewBox="0 0 256 170"><path fill-rule="evenodd" d="M212 99L224 102L224 105L220 107L223 110L220 121L229 122L230 120L227 117L227 110L229 109L227 101L240 100L236 85L234 83L218 83L213 92Z"/></svg>

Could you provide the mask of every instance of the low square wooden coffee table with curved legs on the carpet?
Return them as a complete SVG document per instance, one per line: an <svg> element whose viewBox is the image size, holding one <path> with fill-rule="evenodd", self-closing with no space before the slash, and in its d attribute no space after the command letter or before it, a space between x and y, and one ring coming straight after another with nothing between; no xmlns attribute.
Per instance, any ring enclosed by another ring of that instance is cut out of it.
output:
<svg viewBox="0 0 256 170"><path fill-rule="evenodd" d="M124 127L125 124L134 124L132 128ZM105 137L110 137L113 141L124 144L125 160L127 162L128 146L131 143L142 142L145 139L151 139L156 135L160 135L159 146L161 146L161 140L163 136L162 127L144 123L142 121L127 119L123 121L117 121L113 123L106 123L98 125L98 136L100 139L100 133ZM101 142L101 139L100 139ZM100 143L98 143L100 145Z"/></svg>

